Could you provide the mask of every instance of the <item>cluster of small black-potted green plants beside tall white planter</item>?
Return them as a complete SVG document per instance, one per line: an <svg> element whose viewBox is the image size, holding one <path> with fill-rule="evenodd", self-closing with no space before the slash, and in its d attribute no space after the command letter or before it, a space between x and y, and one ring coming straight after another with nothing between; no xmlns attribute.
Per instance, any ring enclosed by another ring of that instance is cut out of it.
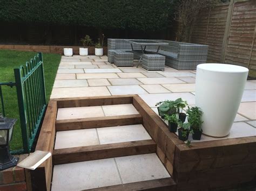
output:
<svg viewBox="0 0 256 191"><path fill-rule="evenodd" d="M168 129L170 132L176 133L178 129L178 137L180 140L186 141L191 133L194 140L201 139L201 116L203 112L198 107L188 107L187 112L183 112L187 106L187 102L178 98L175 101L166 100L156 104L158 106L158 114L162 119L168 121ZM187 123L185 123L187 117Z"/></svg>

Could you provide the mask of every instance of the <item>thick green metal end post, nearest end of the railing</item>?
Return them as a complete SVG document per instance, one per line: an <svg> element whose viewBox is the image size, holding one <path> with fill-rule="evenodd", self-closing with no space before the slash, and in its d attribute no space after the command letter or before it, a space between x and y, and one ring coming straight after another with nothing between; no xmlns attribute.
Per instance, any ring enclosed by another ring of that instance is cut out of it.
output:
<svg viewBox="0 0 256 191"><path fill-rule="evenodd" d="M19 119L21 121L23 148L26 153L29 153L29 150L30 150L29 138L28 138L28 131L26 129L26 126L27 126L26 106L25 106L25 101L24 101L24 91L23 91L22 75L21 75L20 68L14 69L14 76L15 76L17 98L18 98Z"/></svg>

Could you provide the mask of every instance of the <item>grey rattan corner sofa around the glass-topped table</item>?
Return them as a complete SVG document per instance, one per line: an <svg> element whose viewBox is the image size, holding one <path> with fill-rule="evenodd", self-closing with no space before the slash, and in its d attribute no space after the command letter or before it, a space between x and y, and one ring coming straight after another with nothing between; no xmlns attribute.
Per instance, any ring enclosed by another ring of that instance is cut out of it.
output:
<svg viewBox="0 0 256 191"><path fill-rule="evenodd" d="M130 39L129 39L130 40ZM169 45L161 46L159 54L165 56L165 65L175 69L196 69L200 63L205 63L207 59L208 46L190 43L181 43L170 40L154 40L169 43ZM125 39L107 39L108 49L122 49L123 51L131 51L131 44ZM140 49L134 46L134 49ZM157 47L149 46L146 51L156 52ZM134 58L136 59L136 58Z"/></svg>

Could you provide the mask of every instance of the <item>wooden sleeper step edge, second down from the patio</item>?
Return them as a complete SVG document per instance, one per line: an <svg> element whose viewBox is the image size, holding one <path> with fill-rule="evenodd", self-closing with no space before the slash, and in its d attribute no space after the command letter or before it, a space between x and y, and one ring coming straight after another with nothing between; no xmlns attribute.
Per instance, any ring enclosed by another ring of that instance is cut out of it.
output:
<svg viewBox="0 0 256 191"><path fill-rule="evenodd" d="M77 129L103 128L107 126L142 124L143 119L139 114L109 117L92 117L80 119L64 119L56 121L56 131Z"/></svg>

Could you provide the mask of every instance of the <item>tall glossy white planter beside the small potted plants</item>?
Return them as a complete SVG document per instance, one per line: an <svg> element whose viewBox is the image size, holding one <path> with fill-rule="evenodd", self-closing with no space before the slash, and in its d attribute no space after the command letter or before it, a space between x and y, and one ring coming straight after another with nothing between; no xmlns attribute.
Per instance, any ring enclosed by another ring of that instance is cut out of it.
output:
<svg viewBox="0 0 256 191"><path fill-rule="evenodd" d="M196 106L204 112L203 133L225 137L237 114L248 69L222 63L203 63L197 66Z"/></svg>

